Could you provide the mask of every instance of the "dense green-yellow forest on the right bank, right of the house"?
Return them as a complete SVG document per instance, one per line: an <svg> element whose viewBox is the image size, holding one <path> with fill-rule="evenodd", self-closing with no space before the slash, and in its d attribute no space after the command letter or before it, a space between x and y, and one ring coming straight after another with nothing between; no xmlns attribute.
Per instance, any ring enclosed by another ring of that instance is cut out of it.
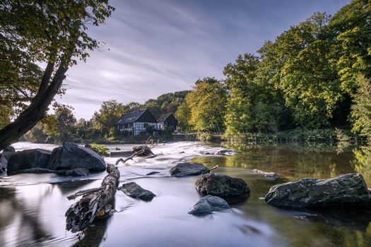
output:
<svg viewBox="0 0 371 247"><path fill-rule="evenodd" d="M196 81L177 112L182 129L343 128L370 138L370 1L351 1L334 16L314 13L223 73L224 81Z"/></svg>

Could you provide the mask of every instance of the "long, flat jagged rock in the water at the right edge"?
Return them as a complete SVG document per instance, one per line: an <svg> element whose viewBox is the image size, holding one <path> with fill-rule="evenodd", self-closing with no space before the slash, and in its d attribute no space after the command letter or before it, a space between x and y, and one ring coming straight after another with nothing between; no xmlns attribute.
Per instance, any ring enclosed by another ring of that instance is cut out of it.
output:
<svg viewBox="0 0 371 247"><path fill-rule="evenodd" d="M371 203L361 174L344 174L334 179L298 179L272 186L266 203L276 207L323 207Z"/></svg>

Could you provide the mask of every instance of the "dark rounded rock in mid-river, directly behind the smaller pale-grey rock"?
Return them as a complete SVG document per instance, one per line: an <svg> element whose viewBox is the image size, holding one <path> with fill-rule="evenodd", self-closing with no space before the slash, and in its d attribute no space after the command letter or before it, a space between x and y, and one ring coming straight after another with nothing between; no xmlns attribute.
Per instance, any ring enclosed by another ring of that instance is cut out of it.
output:
<svg viewBox="0 0 371 247"><path fill-rule="evenodd" d="M220 174L204 174L196 180L196 188L204 195L216 195L222 198L245 195L250 192L242 179L235 179Z"/></svg>

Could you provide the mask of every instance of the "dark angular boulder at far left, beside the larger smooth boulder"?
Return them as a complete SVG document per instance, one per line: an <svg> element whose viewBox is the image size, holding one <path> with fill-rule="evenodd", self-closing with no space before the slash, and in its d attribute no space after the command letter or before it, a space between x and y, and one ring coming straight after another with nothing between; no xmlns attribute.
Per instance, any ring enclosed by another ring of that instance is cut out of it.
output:
<svg viewBox="0 0 371 247"><path fill-rule="evenodd" d="M15 171L33 169L33 168L47 168L51 151L44 149L30 149L16 152L11 155L8 160L7 173L11 175Z"/></svg>

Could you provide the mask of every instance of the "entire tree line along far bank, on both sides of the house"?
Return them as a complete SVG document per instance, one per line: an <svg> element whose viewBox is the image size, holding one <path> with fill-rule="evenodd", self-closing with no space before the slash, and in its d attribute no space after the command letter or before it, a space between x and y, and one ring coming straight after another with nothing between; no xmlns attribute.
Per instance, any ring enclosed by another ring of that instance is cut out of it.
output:
<svg viewBox="0 0 371 247"><path fill-rule="evenodd" d="M28 107L37 92L32 82L40 79L39 68L24 67L20 83L1 84L0 128ZM371 138L370 1L353 0L334 16L314 13L264 42L255 54L237 56L223 74L223 80L199 79L190 91L167 93L144 104L103 102L90 120L76 120L69 107L55 103L55 113L45 116L26 138L57 143L71 138L120 140L124 137L112 124L123 113L143 108L154 116L174 112L179 131L189 133L232 137L336 128ZM57 93L63 94L64 88Z"/></svg>

